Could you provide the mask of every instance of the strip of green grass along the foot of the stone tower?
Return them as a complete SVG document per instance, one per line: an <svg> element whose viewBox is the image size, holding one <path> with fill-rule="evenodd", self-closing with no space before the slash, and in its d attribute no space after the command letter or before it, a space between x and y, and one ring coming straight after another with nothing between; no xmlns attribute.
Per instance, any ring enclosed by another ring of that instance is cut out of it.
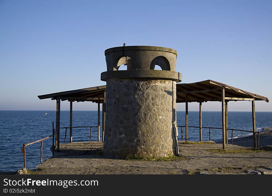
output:
<svg viewBox="0 0 272 196"><path fill-rule="evenodd" d="M182 155L168 155L166 157L156 157L156 156L139 156L139 155L129 155L125 157L125 160L129 161L182 161L189 160L189 158Z"/></svg>

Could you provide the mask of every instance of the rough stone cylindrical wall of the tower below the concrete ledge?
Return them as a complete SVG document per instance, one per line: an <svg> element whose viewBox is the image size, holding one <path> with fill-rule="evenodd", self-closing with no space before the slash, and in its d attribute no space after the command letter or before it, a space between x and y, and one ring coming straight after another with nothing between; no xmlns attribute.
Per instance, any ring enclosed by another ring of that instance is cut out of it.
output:
<svg viewBox="0 0 272 196"><path fill-rule="evenodd" d="M167 156L176 150L176 81L108 79L103 155Z"/></svg>

